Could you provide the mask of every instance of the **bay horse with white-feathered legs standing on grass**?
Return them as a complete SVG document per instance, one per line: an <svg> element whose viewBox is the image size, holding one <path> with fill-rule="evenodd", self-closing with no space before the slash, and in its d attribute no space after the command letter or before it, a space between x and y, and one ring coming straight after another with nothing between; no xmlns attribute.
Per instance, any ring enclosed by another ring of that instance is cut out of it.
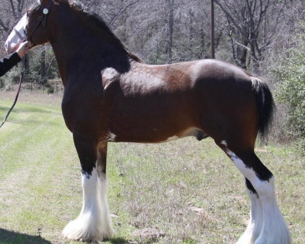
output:
<svg viewBox="0 0 305 244"><path fill-rule="evenodd" d="M214 139L245 176L251 213L237 243L291 243L275 178L254 153L275 107L263 81L214 59L144 64L99 16L74 1L38 0L9 35L7 52L22 39L33 47L51 44L65 86L62 111L73 133L83 188L80 215L65 227L65 237L102 240L113 232L106 199L108 142L194 136Z"/></svg>

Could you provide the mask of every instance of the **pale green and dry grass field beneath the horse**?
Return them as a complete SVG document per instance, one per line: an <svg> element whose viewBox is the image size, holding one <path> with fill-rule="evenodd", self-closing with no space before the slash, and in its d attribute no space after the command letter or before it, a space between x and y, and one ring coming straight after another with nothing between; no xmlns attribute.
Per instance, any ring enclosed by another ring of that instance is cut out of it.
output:
<svg viewBox="0 0 305 244"><path fill-rule="evenodd" d="M0 118L14 94L0 92ZM21 93L0 130L0 244L81 243L60 233L82 204L80 164L60 95ZM305 243L305 164L289 145L259 147L276 177L295 244ZM247 226L243 178L211 139L109 143L108 201L115 235L104 244L235 243ZM133 235L154 227L158 238Z"/></svg>

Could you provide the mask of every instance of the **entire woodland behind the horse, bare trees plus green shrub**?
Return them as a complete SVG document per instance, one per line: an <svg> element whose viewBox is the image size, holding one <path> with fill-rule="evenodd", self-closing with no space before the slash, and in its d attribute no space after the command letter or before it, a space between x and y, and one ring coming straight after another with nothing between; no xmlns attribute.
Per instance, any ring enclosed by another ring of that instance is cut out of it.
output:
<svg viewBox="0 0 305 244"><path fill-rule="evenodd" d="M282 127L290 128L290 136L304 138L305 1L214 1L216 58L265 77L275 89L277 103L284 104L287 121L283 119ZM0 3L0 55L5 56L5 40L34 1ZM148 64L210 57L210 0L86 0L79 4L101 15L128 49ZM45 84L59 78L50 46L31 51L22 66L26 82ZM0 88L11 89L20 69L19 65L0 78ZM283 137L288 137L286 132L281 132Z"/></svg>

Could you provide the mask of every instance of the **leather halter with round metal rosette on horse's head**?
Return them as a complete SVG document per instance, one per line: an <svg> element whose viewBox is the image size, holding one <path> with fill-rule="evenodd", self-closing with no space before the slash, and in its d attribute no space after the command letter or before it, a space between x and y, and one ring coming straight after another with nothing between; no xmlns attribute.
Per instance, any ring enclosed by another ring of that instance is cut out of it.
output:
<svg viewBox="0 0 305 244"><path fill-rule="evenodd" d="M31 41L36 29L39 27L39 25L41 24L44 32L45 32L45 36L46 36L46 20L47 20L47 15L53 5L53 3L55 2L55 0L50 0L48 5L46 7L43 6L42 4L42 0L38 0L37 3L39 4L40 8L43 9L43 14L41 16L38 17L37 19L37 23L35 25L35 27L33 28L32 32L29 33L30 35L27 35L27 37L23 37L16 28L14 28L14 32L17 34L17 36L23 40L23 41L30 41L32 44L33 42ZM47 38L48 39L48 38Z"/></svg>

